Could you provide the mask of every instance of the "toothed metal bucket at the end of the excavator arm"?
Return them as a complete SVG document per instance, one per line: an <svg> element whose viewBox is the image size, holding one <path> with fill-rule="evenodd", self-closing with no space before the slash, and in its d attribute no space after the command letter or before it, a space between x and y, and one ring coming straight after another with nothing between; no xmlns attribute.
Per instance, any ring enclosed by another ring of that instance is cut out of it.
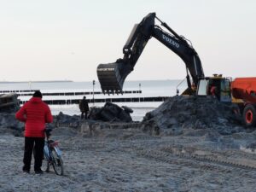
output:
<svg viewBox="0 0 256 192"><path fill-rule="evenodd" d="M97 67L97 76L102 92L105 94L123 93L123 84L126 76L131 72L128 65L122 62L100 64Z"/></svg>

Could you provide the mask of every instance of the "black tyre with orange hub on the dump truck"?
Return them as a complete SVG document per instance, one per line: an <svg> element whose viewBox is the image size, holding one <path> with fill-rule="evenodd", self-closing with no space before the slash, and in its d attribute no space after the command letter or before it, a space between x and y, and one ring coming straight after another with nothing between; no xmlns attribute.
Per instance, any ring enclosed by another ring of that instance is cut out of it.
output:
<svg viewBox="0 0 256 192"><path fill-rule="evenodd" d="M248 104L242 113L244 124L247 127L252 127L256 124L256 110L253 105Z"/></svg>

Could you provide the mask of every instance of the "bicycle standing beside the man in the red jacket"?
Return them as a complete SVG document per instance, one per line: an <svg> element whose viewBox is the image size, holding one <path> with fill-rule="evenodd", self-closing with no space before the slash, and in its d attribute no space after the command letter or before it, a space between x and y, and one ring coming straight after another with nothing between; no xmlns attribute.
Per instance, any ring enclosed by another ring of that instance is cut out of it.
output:
<svg viewBox="0 0 256 192"><path fill-rule="evenodd" d="M49 172L49 166L53 166L56 175L64 174L63 160L61 159L61 149L59 148L58 141L49 139L52 129L46 129L46 140L44 142L44 160L42 169L44 172Z"/></svg>

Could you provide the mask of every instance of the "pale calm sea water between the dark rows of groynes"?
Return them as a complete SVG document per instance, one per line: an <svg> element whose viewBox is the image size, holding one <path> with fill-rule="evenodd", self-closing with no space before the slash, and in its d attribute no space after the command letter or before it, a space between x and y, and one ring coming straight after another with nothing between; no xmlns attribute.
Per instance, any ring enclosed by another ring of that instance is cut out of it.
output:
<svg viewBox="0 0 256 192"><path fill-rule="evenodd" d="M178 87L177 85L180 84ZM182 92L186 88L186 83L181 80L137 80L125 81L123 90L142 90L142 93L124 95L86 95L87 99L97 98L124 98L124 97L154 97L154 96L175 96L177 89ZM73 81L52 81L52 82L1 82L0 90L41 90L43 93L56 92L100 92L99 82L73 82ZM32 91L31 91L32 93ZM43 100L62 100L62 99L82 99L83 96L44 96ZM19 96L20 101L27 101L31 96ZM116 102L119 106L127 106L133 109L131 117L133 120L142 120L145 113L154 110L162 102ZM102 107L105 103L89 103L89 107ZM80 114L77 104L68 105L49 105L53 114L60 112L69 115Z"/></svg>

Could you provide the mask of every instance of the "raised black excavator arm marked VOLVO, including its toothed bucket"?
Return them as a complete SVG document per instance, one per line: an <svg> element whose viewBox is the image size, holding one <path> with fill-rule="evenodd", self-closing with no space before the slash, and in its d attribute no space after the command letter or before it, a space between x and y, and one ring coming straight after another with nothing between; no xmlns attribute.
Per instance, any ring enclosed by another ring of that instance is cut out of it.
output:
<svg viewBox="0 0 256 192"><path fill-rule="evenodd" d="M123 48L124 57L122 59L118 59L114 63L100 64L97 67L97 76L103 93L122 93L125 78L133 70L148 40L152 37L165 44L185 62L189 89L191 89L189 73L195 86L200 78L204 78L201 61L195 49L188 44L185 38L177 35L170 26L161 20L161 25L166 27L170 33L165 32L160 26L156 26L155 19L160 20L155 13L150 13L133 27Z"/></svg>

